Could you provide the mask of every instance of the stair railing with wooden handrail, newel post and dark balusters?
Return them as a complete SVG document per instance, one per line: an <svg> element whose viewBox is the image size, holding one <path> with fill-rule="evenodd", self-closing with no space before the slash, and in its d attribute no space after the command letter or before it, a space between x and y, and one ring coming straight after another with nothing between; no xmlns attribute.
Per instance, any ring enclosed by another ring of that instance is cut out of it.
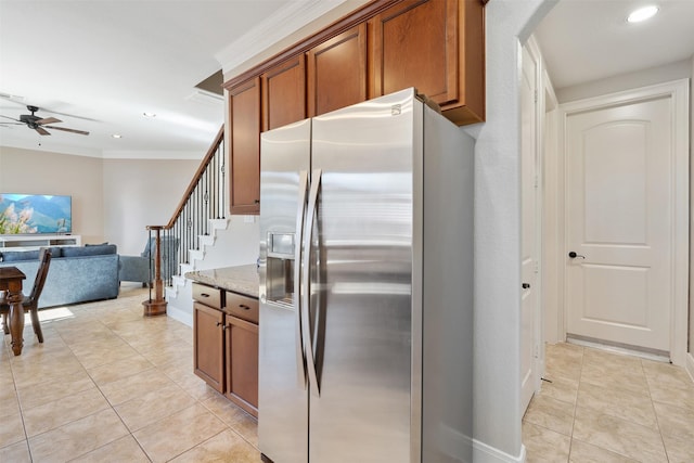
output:
<svg viewBox="0 0 694 463"><path fill-rule="evenodd" d="M224 160L222 125L171 219L165 226L146 227L150 233L150 281L153 284L150 285L150 298L142 303L145 317L166 313L164 286L172 284L180 263L191 262L191 250L200 249L198 236L210 233L209 219L226 218Z"/></svg>

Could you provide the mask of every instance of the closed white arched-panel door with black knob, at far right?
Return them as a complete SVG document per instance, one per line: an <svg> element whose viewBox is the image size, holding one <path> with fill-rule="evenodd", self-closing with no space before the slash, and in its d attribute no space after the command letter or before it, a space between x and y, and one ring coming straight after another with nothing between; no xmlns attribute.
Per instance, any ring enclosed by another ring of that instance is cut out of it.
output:
<svg viewBox="0 0 694 463"><path fill-rule="evenodd" d="M568 336L670 350L670 105L663 97L566 117Z"/></svg>

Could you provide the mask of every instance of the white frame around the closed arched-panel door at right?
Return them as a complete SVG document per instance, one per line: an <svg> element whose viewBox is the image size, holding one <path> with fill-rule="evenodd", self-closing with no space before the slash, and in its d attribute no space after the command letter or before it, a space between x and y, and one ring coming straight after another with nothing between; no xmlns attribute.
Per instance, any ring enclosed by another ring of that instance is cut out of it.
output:
<svg viewBox="0 0 694 463"><path fill-rule="evenodd" d="M690 154L689 154L689 79L679 79L669 82L642 87L639 89L608 93L601 97L589 98L560 105L560 165L564 166L563 176L560 176L557 190L562 193L560 216L563 220L563 248L560 249L558 278L562 285L562 308L557 313L557 331L560 339L566 339L566 320L568 304L566 300L566 253L568 252L568 217L566 215L566 179L569 172L566 170L566 126L567 118L576 113L590 110L606 108L617 104L637 103L654 98L669 98L671 101L672 116L672 151L673 162L671 167L672 190L670 195L672 204L672 307L670 313L670 361L684 366L687 344L687 306L689 306L689 250L690 250Z"/></svg>

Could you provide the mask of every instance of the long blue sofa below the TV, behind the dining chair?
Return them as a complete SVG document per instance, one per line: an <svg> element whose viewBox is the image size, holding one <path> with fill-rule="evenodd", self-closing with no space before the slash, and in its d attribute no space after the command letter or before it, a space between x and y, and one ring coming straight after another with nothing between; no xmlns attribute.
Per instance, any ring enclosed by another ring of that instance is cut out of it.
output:
<svg viewBox="0 0 694 463"><path fill-rule="evenodd" d="M16 267L26 274L28 294L38 270L39 250L0 252L0 267ZM118 297L118 252L115 244L51 247L51 266L39 308Z"/></svg>

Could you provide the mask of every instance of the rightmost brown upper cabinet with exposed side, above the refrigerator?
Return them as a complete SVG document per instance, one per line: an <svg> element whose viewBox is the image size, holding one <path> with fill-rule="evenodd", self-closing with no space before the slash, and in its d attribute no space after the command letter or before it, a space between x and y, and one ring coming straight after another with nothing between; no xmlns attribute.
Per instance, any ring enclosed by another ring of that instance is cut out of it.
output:
<svg viewBox="0 0 694 463"><path fill-rule="evenodd" d="M370 20L370 98L415 87L458 125L484 120L479 0L404 0Z"/></svg>

